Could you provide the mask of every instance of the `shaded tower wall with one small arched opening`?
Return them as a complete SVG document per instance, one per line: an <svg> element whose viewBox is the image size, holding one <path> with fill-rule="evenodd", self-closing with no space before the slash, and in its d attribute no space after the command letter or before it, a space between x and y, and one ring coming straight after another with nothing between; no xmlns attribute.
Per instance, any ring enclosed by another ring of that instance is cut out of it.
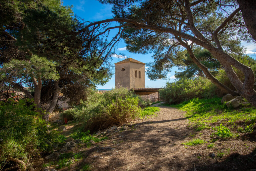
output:
<svg viewBox="0 0 256 171"><path fill-rule="evenodd" d="M130 62L115 65L115 87L130 88Z"/></svg>

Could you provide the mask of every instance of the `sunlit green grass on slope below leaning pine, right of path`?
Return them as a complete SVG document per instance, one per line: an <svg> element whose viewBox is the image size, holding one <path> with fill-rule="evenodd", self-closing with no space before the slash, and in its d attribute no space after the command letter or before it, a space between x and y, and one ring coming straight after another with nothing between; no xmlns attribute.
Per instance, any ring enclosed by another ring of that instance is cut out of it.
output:
<svg viewBox="0 0 256 171"><path fill-rule="evenodd" d="M240 124L242 123L240 132L252 132L253 124L256 122L256 109L254 107L247 104L243 108L228 109L220 101L221 98L194 98L180 104L167 106L186 111L186 117L189 118L190 124L196 131L210 129L211 123L222 123L226 127L229 125L236 127L237 122L240 122Z"/></svg>

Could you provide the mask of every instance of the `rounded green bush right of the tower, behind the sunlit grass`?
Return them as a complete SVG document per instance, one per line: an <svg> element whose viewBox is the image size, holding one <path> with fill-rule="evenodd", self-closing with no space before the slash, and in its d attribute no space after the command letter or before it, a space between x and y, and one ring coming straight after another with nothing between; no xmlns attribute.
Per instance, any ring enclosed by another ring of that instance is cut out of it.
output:
<svg viewBox="0 0 256 171"><path fill-rule="evenodd" d="M216 87L213 86L207 78L182 78L176 82L167 82L166 87L160 89L160 98L168 104L177 104L195 97L212 98L217 93Z"/></svg>

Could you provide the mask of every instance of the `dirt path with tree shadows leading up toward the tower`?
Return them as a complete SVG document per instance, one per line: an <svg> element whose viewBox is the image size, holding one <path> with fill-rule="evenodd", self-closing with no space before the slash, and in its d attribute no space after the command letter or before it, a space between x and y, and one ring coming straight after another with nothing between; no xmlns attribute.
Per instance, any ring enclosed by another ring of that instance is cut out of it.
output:
<svg viewBox="0 0 256 171"><path fill-rule="evenodd" d="M89 150L80 149L87 155L84 162L92 163L93 170L186 170L193 167L190 160L195 158L194 154L181 145L191 132L184 112L158 107L157 117L135 121L109 140Z"/></svg>

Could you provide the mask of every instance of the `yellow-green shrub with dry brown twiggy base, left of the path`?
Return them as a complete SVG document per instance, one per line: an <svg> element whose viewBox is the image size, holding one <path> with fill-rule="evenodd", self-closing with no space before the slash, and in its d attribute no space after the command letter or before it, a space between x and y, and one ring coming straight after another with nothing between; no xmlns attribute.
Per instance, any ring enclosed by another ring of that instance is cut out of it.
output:
<svg viewBox="0 0 256 171"><path fill-rule="evenodd" d="M106 129L113 125L122 125L130 122L141 112L138 106L138 97L123 99L121 97L112 100L104 109L102 114L92 117L86 122L85 130L91 132Z"/></svg>

